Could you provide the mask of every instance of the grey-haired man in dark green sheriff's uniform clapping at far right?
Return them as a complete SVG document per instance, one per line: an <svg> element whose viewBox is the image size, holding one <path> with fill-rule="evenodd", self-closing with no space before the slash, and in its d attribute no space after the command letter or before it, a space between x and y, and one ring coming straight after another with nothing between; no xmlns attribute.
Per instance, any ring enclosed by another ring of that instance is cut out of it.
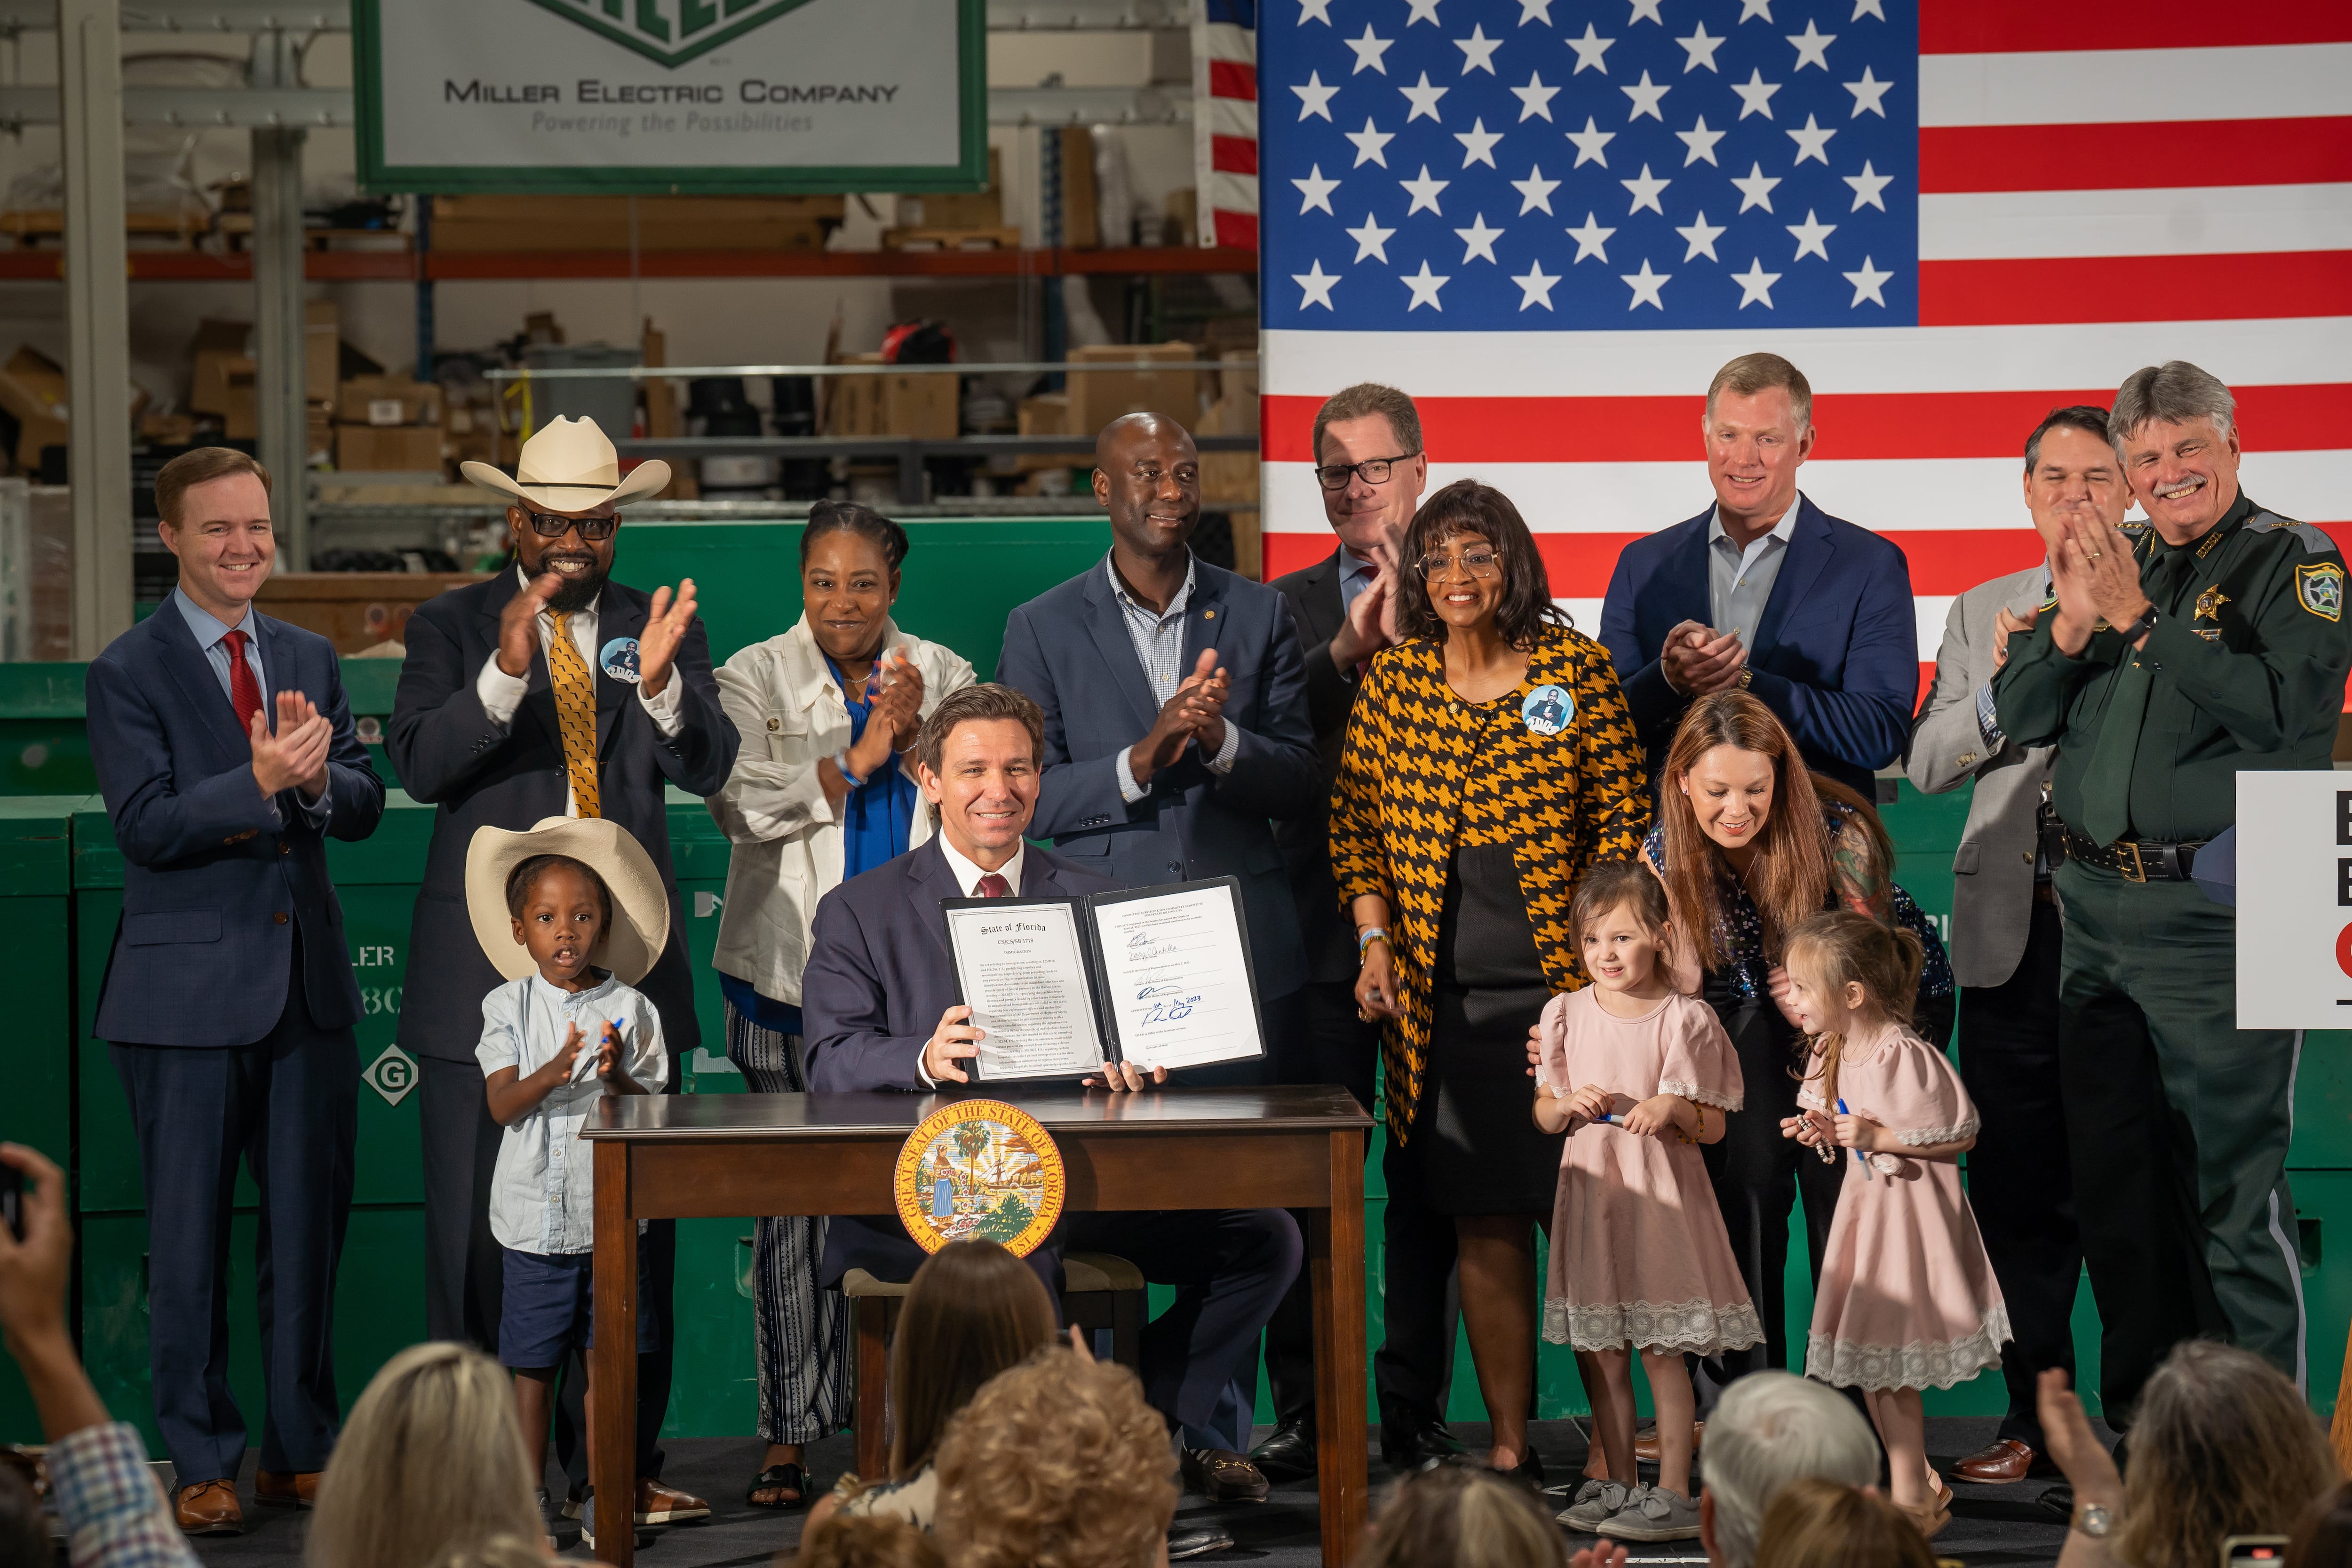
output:
<svg viewBox="0 0 2352 1568"><path fill-rule="evenodd" d="M2147 367L2107 435L2150 522L2067 522L1994 703L2011 741L2058 745L2060 1086L2119 1420L2199 1333L2305 1380L2286 1190L2303 1037L2237 1027L2237 912L2190 875L2237 820L2239 771L2331 766L2352 635L2333 541L2239 491L2230 388Z"/></svg>

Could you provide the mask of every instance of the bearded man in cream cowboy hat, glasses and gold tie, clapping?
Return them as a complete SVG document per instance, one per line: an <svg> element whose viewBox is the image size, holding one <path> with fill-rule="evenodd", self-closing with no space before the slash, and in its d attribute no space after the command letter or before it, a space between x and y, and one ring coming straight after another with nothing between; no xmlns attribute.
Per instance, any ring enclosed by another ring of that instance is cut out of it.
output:
<svg viewBox="0 0 2352 1568"><path fill-rule="evenodd" d="M691 1053L701 1032L663 788L713 795L734 766L736 731L720 710L691 578L675 595L644 595L607 576L619 508L668 484L668 463L640 463L623 480L595 421L557 418L522 444L515 477L489 463L463 473L510 501L515 567L416 609L388 750L402 788L440 806L400 1006L400 1046L423 1067L426 1333L496 1347L499 1124L473 1048L499 971L466 922L466 844L477 827L524 830L548 816L602 816L635 837L670 900L670 938L640 990L661 1011L670 1053ZM675 1225L656 1220L644 1239L647 1312L663 1331L673 1246ZM652 1448L670 1401L670 1335L659 1342L637 1373L640 1476L659 1474ZM708 1505L642 1481L635 1512L661 1523Z"/></svg>

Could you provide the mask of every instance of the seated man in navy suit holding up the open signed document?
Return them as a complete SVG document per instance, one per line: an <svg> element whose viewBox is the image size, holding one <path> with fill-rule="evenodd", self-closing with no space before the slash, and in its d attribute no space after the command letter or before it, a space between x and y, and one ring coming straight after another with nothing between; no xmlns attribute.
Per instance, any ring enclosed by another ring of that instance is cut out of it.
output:
<svg viewBox="0 0 2352 1568"><path fill-rule="evenodd" d="M971 1009L955 1001L941 898L1077 898L1117 884L1023 842L1037 809L1044 715L1011 686L964 686L922 724L915 743L922 795L938 832L816 905L800 1016L809 1086L927 1091L964 1084L978 1053ZM1105 1086L1136 1091L1131 1063ZM1167 1070L1152 1070L1162 1081ZM1094 1084L1096 1079L1089 1079ZM880 1194L877 1194L880 1197ZM1218 1394L1298 1272L1298 1225L1282 1208L1073 1213L1030 1255L1047 1288L1061 1251L1108 1251L1176 1305L1143 1331L1143 1392L1183 1432L1185 1486L1214 1500L1265 1497L1265 1476L1207 1434ZM849 1269L910 1279L924 1253L891 1218L835 1218L823 1284Z"/></svg>

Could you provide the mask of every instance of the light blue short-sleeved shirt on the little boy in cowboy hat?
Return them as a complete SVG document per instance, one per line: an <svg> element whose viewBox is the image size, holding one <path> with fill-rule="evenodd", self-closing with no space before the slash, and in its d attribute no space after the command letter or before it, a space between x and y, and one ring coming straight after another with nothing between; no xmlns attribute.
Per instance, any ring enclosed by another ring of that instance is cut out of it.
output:
<svg viewBox="0 0 2352 1568"><path fill-rule="evenodd" d="M595 1251L595 1159L581 1143L581 1128L604 1095L604 1081L590 1065L604 1025L621 1025L628 1077L652 1093L661 1093L668 1081L661 1013L614 976L583 992L567 992L536 973L508 980L482 997L482 1039L473 1058L485 1079L499 1067L532 1077L562 1053L574 1023L586 1044L572 1063L572 1081L548 1091L546 1100L499 1135L499 1164L489 1178L489 1234L517 1253L553 1258Z"/></svg>

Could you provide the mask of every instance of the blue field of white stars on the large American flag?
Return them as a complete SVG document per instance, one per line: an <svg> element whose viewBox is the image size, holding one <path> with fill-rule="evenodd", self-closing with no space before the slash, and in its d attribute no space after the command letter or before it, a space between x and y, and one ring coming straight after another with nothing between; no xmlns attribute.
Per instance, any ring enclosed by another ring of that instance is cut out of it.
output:
<svg viewBox="0 0 2352 1568"><path fill-rule="evenodd" d="M1915 327L1917 0L1265 0L1265 324Z"/></svg>

